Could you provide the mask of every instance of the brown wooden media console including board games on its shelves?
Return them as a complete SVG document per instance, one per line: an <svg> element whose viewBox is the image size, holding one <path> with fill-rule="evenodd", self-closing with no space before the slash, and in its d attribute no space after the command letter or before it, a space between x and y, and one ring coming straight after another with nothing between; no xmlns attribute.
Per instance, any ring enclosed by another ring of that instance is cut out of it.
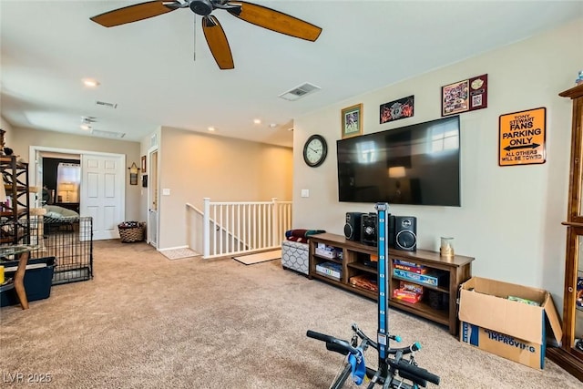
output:
<svg viewBox="0 0 583 389"><path fill-rule="evenodd" d="M378 299L374 290L376 247L349 241L342 235L322 233L310 237L309 251L312 278ZM389 249L389 305L444 324L449 333L456 335L459 329L457 293L459 285L472 276L472 261L474 258L462 255L444 258L435 251ZM419 296L421 300L417 302L407 302L411 296L394 292L403 287L423 290L423 297Z"/></svg>

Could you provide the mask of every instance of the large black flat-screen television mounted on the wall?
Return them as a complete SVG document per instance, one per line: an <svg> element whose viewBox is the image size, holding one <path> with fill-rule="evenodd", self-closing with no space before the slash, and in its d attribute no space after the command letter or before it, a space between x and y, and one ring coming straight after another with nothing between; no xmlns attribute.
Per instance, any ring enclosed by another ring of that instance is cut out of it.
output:
<svg viewBox="0 0 583 389"><path fill-rule="evenodd" d="M338 200L460 206L459 116L338 140Z"/></svg>

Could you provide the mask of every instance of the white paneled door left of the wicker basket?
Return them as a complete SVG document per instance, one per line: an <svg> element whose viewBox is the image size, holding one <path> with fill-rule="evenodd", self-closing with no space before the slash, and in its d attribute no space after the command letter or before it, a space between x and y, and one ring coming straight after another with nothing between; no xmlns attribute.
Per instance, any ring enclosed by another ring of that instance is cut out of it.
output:
<svg viewBox="0 0 583 389"><path fill-rule="evenodd" d="M125 156L81 156L81 216L93 218L93 239L118 239L125 217Z"/></svg>

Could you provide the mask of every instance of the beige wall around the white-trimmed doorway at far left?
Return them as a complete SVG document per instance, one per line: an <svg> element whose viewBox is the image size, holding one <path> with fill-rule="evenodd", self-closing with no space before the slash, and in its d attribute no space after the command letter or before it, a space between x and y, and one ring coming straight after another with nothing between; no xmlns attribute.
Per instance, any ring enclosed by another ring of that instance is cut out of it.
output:
<svg viewBox="0 0 583 389"><path fill-rule="evenodd" d="M84 150L103 153L123 154L126 156L126 163L131 166L136 162L139 167L139 143L126 140L85 137L80 135L63 134L53 131L38 131L30 128L14 128L10 134L10 143L6 146L13 148L15 154L20 155L29 161L30 146L40 146L45 148L66 148L71 150ZM32 165L29 167L31 180L34 175L31 173ZM125 220L140 220L139 209L139 189L138 185L129 185L129 173L126 175L126 215Z"/></svg>

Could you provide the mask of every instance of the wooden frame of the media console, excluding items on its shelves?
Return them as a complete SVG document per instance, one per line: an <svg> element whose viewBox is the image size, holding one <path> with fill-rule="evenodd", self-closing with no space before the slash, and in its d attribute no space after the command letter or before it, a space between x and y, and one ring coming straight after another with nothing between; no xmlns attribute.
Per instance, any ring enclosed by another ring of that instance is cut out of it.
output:
<svg viewBox="0 0 583 389"><path fill-rule="evenodd" d="M316 247L318 243L333 247L342 251L342 260L330 259L326 256L318 255ZM378 292L369 291L351 284L350 279L357 275L368 275L371 279L376 280L377 270L364 264L364 261L370 261L371 255L377 255L377 248L367 246L357 241L349 241L341 235L332 233L322 233L312 235L310 238L310 276L323 282L329 282L348 291L356 292L367 298L377 300ZM394 260L414 262L422 265L430 271L441 271L444 274L445 283L439 286L430 286L423 282L406 282L422 285L424 290L436 291L445 294L448 302L444 310L433 308L427 301L422 300L416 303L404 302L393 297L394 289L399 287L401 279L394 276ZM340 280L334 280L331 277L316 272L316 265L334 261L342 264L342 276ZM469 280L472 276L472 261L474 258L455 255L453 258L445 259L435 251L401 251L389 249L388 264L391 276L389 277L389 305L406 312L414 313L433 322L444 324L449 328L449 333L456 335L459 330L459 321L457 319L457 293L459 285Z"/></svg>

